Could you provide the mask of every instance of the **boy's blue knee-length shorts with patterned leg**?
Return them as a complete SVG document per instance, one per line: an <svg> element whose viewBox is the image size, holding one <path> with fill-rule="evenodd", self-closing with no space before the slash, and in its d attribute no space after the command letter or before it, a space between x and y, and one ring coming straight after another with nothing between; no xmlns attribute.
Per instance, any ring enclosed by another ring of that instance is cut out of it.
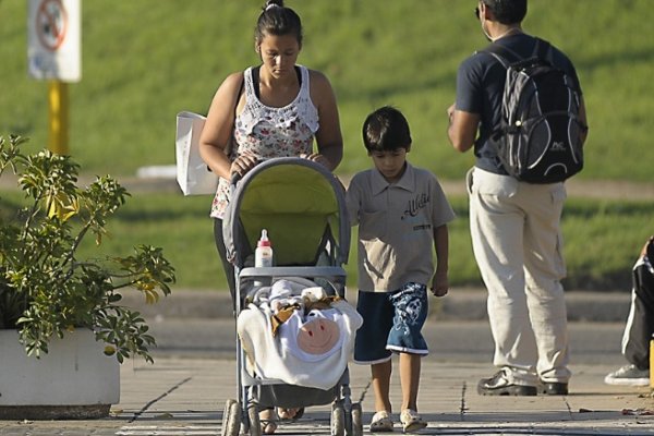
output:
<svg viewBox="0 0 654 436"><path fill-rule="evenodd" d="M354 362L382 363L393 352L428 354L421 332L428 313L426 286L410 282L393 292L359 291L356 311L363 325L356 330Z"/></svg>

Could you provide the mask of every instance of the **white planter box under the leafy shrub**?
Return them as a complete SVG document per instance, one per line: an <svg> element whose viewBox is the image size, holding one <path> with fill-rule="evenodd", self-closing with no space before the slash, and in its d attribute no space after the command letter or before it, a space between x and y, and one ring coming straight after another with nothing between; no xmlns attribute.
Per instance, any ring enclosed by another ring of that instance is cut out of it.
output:
<svg viewBox="0 0 654 436"><path fill-rule="evenodd" d="M120 400L120 364L86 329L27 356L15 330L0 330L0 420L102 417Z"/></svg>

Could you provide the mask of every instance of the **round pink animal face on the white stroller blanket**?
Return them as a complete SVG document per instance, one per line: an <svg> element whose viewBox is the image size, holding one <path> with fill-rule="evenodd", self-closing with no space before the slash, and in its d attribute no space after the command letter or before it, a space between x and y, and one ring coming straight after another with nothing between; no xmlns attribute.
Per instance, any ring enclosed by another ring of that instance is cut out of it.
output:
<svg viewBox="0 0 654 436"><path fill-rule="evenodd" d="M335 310L313 310L306 315L295 311L279 327L279 340L284 351L304 362L318 362L338 351L346 330L343 315Z"/></svg>

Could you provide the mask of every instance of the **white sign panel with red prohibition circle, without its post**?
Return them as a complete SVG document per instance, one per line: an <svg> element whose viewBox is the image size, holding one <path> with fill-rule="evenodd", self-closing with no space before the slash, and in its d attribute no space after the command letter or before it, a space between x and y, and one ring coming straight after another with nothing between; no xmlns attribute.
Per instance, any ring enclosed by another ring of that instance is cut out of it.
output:
<svg viewBox="0 0 654 436"><path fill-rule="evenodd" d="M81 78L80 0L29 0L29 74L35 78Z"/></svg>

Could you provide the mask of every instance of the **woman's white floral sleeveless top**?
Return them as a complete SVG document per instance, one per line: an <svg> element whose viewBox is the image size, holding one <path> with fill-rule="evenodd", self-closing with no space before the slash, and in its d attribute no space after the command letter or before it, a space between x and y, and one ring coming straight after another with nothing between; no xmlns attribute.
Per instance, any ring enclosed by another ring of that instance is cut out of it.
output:
<svg viewBox="0 0 654 436"><path fill-rule="evenodd" d="M256 97L252 68L243 73L245 107L237 116L230 160L250 152L261 160L292 157L312 153L314 134L318 131L318 110L310 96L308 70L300 68L302 83L293 101L282 108L265 106ZM220 178L211 204L211 217L220 218L229 203L229 182Z"/></svg>

